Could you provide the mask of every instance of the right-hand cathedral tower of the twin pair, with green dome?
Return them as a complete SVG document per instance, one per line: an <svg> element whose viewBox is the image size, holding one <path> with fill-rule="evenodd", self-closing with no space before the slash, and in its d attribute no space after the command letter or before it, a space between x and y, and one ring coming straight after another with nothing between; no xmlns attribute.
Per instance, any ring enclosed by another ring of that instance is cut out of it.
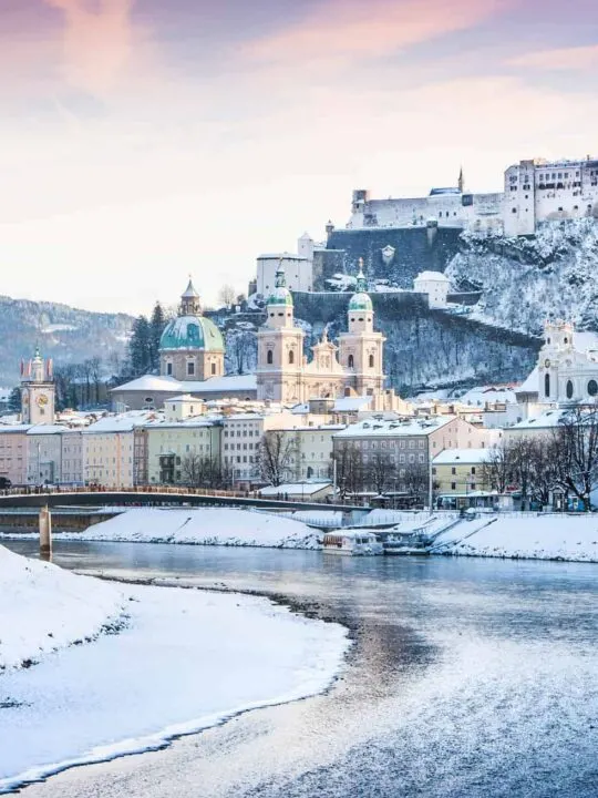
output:
<svg viewBox="0 0 598 798"><path fill-rule="evenodd" d="M373 306L367 291L360 258L357 293L349 301L349 331L339 336L340 364L349 375L347 386L360 396L380 393L384 388L382 358L386 339L373 328Z"/></svg>

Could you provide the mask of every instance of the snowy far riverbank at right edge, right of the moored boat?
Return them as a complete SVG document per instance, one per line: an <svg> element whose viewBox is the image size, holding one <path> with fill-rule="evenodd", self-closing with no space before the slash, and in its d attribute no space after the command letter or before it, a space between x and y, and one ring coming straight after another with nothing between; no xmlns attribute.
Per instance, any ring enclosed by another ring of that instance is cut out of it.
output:
<svg viewBox="0 0 598 798"><path fill-rule="evenodd" d="M598 514L482 515L441 534L434 553L598 562Z"/></svg>

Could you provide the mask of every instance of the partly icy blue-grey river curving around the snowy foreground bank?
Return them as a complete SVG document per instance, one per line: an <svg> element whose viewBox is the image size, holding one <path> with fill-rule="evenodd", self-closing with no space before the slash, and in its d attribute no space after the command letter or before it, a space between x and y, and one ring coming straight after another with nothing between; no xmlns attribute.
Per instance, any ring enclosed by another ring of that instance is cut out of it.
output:
<svg viewBox="0 0 598 798"><path fill-rule="evenodd" d="M598 796L596 565L125 543L56 543L54 561L285 596L354 646L323 696L28 798Z"/></svg>

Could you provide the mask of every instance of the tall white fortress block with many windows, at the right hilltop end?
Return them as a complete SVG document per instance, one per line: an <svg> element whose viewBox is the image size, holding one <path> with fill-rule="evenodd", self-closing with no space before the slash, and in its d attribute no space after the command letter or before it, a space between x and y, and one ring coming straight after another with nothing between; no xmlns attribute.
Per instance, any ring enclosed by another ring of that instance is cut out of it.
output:
<svg viewBox="0 0 598 798"><path fill-rule="evenodd" d="M598 217L598 161L520 161L505 172L505 234L534 235L542 222Z"/></svg>

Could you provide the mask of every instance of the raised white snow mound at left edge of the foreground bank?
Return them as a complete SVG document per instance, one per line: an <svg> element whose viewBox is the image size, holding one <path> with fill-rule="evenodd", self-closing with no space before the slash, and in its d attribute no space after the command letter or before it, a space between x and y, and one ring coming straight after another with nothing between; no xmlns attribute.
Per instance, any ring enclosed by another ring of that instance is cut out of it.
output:
<svg viewBox="0 0 598 798"><path fill-rule="evenodd" d="M0 546L0 671L96 636L126 605L114 585Z"/></svg>

